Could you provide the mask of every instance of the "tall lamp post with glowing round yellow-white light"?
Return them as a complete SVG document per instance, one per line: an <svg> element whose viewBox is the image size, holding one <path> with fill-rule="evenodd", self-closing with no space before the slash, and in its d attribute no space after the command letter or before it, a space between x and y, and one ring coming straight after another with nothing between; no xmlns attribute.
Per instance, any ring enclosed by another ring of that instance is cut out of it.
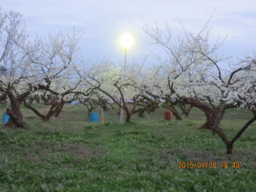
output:
<svg viewBox="0 0 256 192"><path fill-rule="evenodd" d="M126 70L126 54L127 54L127 48L132 46L132 43L133 43L133 39L132 39L132 36L129 35L129 34L124 34L121 39L120 39L120 43L121 45L124 47L125 49L125 52L124 52L124 73L125 73L125 70ZM122 95L124 97L124 90L122 91ZM123 101L124 99L123 98L120 98L120 102L121 102L121 105L123 105ZM123 121L123 112L124 112L124 109L120 107L120 122Z"/></svg>

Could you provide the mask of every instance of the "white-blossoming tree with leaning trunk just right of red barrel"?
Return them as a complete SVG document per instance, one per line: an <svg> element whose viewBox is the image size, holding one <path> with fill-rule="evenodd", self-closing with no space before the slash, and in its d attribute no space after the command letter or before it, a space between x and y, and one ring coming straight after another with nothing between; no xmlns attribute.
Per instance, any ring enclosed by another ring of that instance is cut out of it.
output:
<svg viewBox="0 0 256 192"><path fill-rule="evenodd" d="M144 32L152 37L153 43L151 44L160 45L166 54L164 59L156 55L159 64L152 66L151 74L147 75L151 83L144 84L144 86L148 86L147 95L143 95L144 99L150 101L150 97L155 98L150 102L158 103L162 107L170 109L177 120L182 120L181 115L175 109L177 91L182 90L184 81L186 84L189 83L189 79L196 76L198 72L207 73L210 71L213 68L213 63L208 60L205 61L199 53L188 50L192 41L188 34L173 39L168 26L166 26L165 32L162 32L158 26L156 29L144 26ZM201 34L197 37L201 38ZM215 50L219 45L221 43L215 44Z"/></svg>

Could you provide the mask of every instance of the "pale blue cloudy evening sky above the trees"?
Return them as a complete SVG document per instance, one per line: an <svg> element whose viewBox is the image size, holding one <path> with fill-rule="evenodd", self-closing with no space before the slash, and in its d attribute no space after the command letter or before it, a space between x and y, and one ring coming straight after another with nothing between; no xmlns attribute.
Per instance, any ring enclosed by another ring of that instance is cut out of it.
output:
<svg viewBox="0 0 256 192"><path fill-rule="evenodd" d="M161 46L149 44L151 37L143 32L143 26L164 30L166 23L173 38L184 35L184 30L199 33L210 19L211 41L221 37L226 40L219 55L233 55L233 60L251 54L256 44L255 0L1 0L2 12L19 12L26 23L30 38L38 35L56 35L81 30L79 41L86 61L103 59L124 62L124 48L120 37L128 33L133 45L127 50L127 61L146 65L157 64L153 53L165 57ZM182 26L181 26L182 23ZM153 52L153 53L152 53Z"/></svg>

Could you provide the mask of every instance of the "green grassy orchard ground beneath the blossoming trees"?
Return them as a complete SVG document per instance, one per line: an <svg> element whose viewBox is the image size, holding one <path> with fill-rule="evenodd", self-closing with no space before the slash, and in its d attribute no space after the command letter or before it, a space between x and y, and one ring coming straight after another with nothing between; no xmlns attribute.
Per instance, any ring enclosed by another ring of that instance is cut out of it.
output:
<svg viewBox="0 0 256 192"><path fill-rule="evenodd" d="M226 155L217 135L197 130L205 122L197 109L166 121L159 108L143 118L135 114L129 124L116 111L89 122L83 106L66 105L59 118L43 122L23 108L30 131L0 128L0 191L255 191L255 123ZM250 117L229 110L221 128L231 138ZM181 162L208 162L208 168ZM239 169L221 162L239 162Z"/></svg>

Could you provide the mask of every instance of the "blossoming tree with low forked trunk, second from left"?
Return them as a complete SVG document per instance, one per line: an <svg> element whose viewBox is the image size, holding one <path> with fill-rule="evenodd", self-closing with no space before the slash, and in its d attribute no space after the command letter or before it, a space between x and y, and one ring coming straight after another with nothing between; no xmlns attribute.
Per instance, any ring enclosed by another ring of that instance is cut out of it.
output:
<svg viewBox="0 0 256 192"><path fill-rule="evenodd" d="M80 31L70 35L62 32L56 37L48 35L48 38L39 38L40 51L31 58L36 65L34 70L37 79L34 79L36 94L47 106L51 106L44 115L34 108L27 99L24 99L25 107L34 111L41 119L50 120L50 117L59 116L65 103L75 101L78 95L90 95L94 90L92 86L84 84L75 70L81 61L77 43L81 39ZM84 88L87 86L86 92Z"/></svg>

